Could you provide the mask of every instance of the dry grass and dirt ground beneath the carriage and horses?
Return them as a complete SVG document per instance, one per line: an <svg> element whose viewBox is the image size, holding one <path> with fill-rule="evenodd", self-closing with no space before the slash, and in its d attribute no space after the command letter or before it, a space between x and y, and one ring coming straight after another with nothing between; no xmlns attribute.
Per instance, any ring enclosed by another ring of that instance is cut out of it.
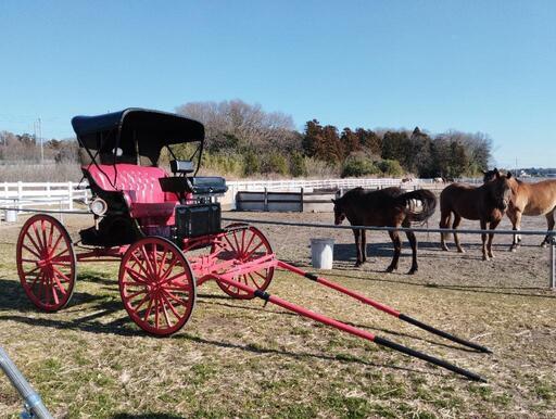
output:
<svg viewBox="0 0 556 419"><path fill-rule="evenodd" d="M331 220L330 214L226 216ZM90 223L64 218L75 237ZM440 251L438 234L419 234L419 271L407 276L406 242L400 272L383 272L392 256L386 233L371 234L370 262L354 269L350 231L261 226L281 258L302 266L311 237L333 237L334 269L321 274L494 353L463 348L288 272L275 275L270 293L479 372L489 380L482 384L258 300L231 300L213 283L198 290L180 332L151 338L122 306L117 264L78 265L70 306L39 313L14 263L23 220L0 227L0 344L55 417L556 417L556 293L546 290L541 238L526 237L513 254L510 238L498 237L497 257L481 262L478 237L463 236L467 253L457 254ZM526 218L523 229L532 228L545 228L544 218ZM20 410L0 376L0 417Z"/></svg>

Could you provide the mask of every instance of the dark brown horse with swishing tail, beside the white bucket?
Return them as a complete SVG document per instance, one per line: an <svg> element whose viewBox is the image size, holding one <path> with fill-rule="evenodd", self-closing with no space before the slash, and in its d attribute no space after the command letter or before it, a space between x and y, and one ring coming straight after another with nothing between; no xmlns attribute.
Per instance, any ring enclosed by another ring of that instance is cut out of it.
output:
<svg viewBox="0 0 556 419"><path fill-rule="evenodd" d="M352 189L334 203L334 224L338 226L348 218L352 226L375 227L410 227L412 221L425 221L437 207L437 196L431 191L419 189L404 193L400 188L386 188L377 191L365 191L363 188ZM361 266L367 259L367 240L364 229L353 229L357 262ZM397 231L389 231L394 243L394 257L387 268L388 272L397 269L397 261L402 253L402 241ZM413 251L409 275L415 274L417 266L417 239L413 231L405 233Z"/></svg>

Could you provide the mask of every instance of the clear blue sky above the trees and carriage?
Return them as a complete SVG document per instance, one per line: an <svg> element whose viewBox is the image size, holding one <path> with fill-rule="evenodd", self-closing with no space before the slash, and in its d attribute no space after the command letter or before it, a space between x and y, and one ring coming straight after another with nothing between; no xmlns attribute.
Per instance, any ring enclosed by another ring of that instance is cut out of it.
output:
<svg viewBox="0 0 556 419"><path fill-rule="evenodd" d="M485 132L556 166L555 1L0 1L0 130L242 99L340 129Z"/></svg>

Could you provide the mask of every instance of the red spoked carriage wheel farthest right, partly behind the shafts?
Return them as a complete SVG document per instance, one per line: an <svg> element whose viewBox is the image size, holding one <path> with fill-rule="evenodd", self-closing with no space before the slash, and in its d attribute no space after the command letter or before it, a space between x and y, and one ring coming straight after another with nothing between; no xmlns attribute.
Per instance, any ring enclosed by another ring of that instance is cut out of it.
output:
<svg viewBox="0 0 556 419"><path fill-rule="evenodd" d="M222 261L237 259L240 263L248 263L273 253L273 247L265 234L257 228L249 225L232 224L226 227L230 229L223 238L223 249L218 252L217 258ZM215 246L213 246L213 252ZM257 290L265 291L274 276L274 267L258 268L249 274L239 275L236 281L245 283ZM218 287L233 299L250 300L254 295L217 281Z"/></svg>

